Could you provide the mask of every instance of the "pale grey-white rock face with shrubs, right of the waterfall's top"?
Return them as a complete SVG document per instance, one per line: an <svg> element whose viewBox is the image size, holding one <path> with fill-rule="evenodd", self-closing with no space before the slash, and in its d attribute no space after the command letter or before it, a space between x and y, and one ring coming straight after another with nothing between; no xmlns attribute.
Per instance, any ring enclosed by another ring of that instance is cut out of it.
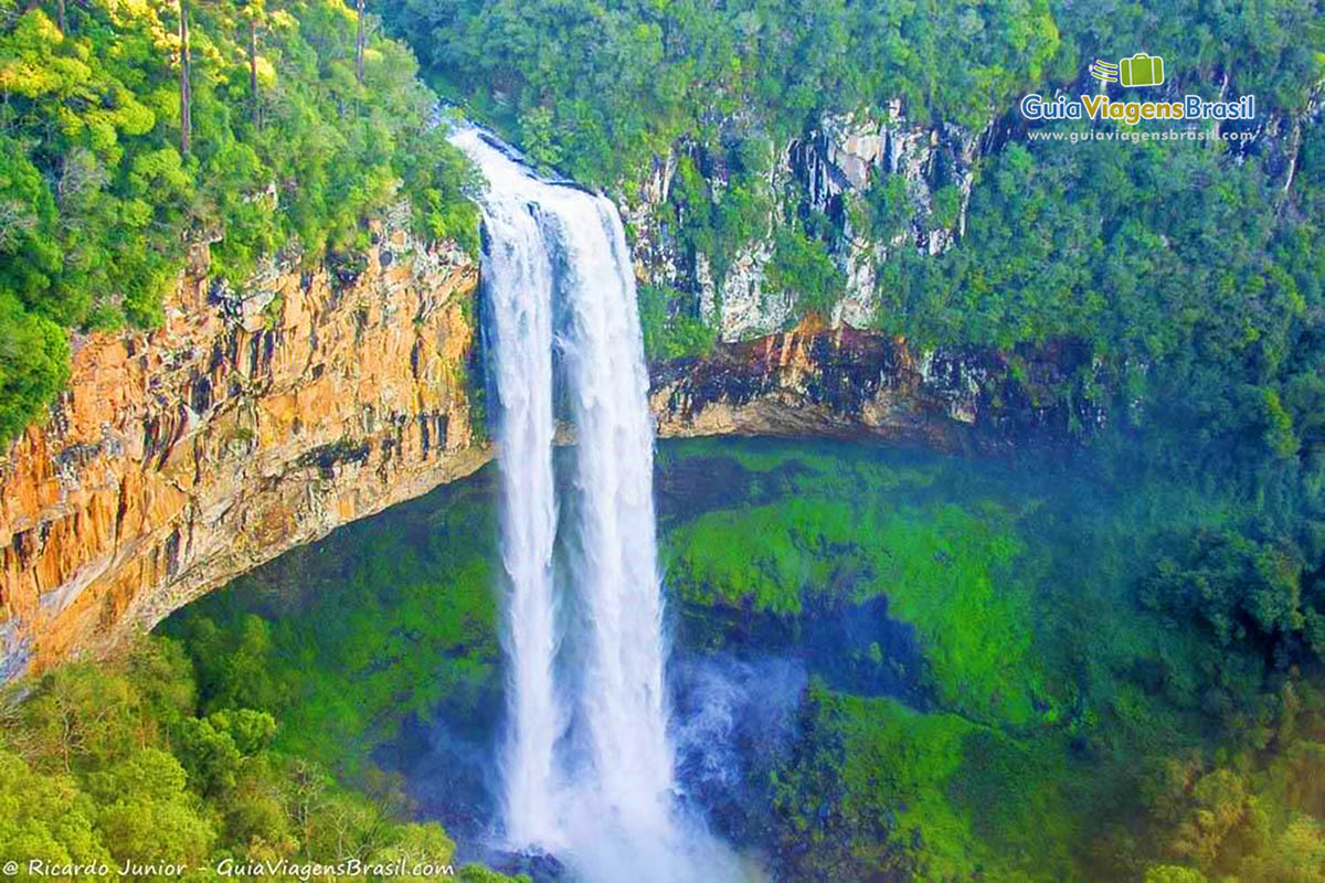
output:
<svg viewBox="0 0 1325 883"><path fill-rule="evenodd" d="M725 122L725 130L734 136L749 135L750 126L750 120L739 118ZM798 214L829 218L836 230L829 244L832 257L845 278L831 319L868 327L877 311L878 267L889 256L906 248L938 254L965 230L982 138L951 123L912 122L901 102L893 102L876 118L844 115L820 120L814 130L775 151L765 181L770 196L766 234L727 256L721 277L713 269L712 254L689 250L677 238L673 229L677 218L669 199L678 154L689 154L704 173L714 203L721 205L729 187L722 148L686 143L669 150L617 201L635 234L632 248L640 278L692 294L698 314L727 343L776 332L796 320L792 294L770 291L766 285L775 232ZM884 240L872 230L859 229L856 220L868 214L863 205L871 191L890 183L897 183L905 193L905 220ZM945 212L942 222L934 212L941 195L955 200L951 218Z"/></svg>

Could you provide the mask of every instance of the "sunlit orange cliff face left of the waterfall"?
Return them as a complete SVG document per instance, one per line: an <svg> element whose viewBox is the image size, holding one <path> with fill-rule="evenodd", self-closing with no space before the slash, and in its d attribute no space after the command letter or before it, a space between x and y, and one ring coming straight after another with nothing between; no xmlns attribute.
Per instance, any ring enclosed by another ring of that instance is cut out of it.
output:
<svg viewBox="0 0 1325 883"><path fill-rule="evenodd" d="M150 334L76 343L0 462L0 680L134 627L338 524L468 474L477 266L401 217L355 259L207 286Z"/></svg>

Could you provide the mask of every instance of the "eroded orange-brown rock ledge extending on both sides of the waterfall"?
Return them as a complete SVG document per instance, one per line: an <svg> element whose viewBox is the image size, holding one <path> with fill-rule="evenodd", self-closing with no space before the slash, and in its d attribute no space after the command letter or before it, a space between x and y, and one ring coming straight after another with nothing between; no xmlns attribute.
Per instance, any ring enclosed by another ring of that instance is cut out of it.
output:
<svg viewBox="0 0 1325 883"><path fill-rule="evenodd" d="M80 340L52 418L0 461L0 682L98 654L492 457L472 432L478 274L462 253L396 218L364 257L272 266L238 294L204 270L200 253L160 330ZM664 437L998 451L1102 420L1051 395L1084 357L803 327L655 365L651 402Z"/></svg>

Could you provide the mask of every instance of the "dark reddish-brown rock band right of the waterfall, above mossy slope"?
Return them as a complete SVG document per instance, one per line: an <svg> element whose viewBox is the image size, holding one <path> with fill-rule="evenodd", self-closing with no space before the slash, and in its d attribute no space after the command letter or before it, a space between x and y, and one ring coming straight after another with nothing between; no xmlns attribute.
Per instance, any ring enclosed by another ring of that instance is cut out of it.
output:
<svg viewBox="0 0 1325 883"><path fill-rule="evenodd" d="M1055 395L1079 383L1086 359L1084 347L1064 343L916 352L849 326L803 327L662 365L651 402L661 436L835 436L945 451L1007 451L1030 440L1067 447L1105 421L1085 397Z"/></svg>

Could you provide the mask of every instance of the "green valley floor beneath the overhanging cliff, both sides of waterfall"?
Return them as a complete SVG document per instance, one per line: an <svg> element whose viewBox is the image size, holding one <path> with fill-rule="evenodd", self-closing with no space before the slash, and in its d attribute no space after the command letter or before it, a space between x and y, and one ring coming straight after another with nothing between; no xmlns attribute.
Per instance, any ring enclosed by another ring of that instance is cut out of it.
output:
<svg viewBox="0 0 1325 883"><path fill-rule="evenodd" d="M778 879L1321 879L1318 667L1165 600L1195 572L1186 537L1242 506L1090 461L722 440L657 462L677 659L804 674L776 737L735 728L737 788L708 804ZM489 469L236 580L109 673L57 673L5 724L0 800L52 770L44 800L109 823L98 789L146 760L111 728L64 761L50 733L119 690L125 732L166 752L160 800L209 843L280 842L242 825L281 813L245 801L286 793L292 765L327 770L334 805L388 806L400 837L444 843L420 826L440 818L464 843L493 813L496 519Z"/></svg>

